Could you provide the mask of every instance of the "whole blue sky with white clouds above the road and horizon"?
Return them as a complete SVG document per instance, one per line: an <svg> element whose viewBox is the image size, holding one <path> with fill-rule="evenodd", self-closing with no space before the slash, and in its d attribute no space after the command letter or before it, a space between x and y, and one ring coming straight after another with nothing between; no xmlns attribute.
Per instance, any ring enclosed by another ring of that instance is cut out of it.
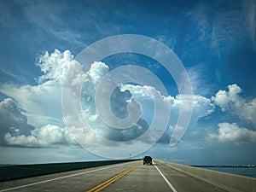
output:
<svg viewBox="0 0 256 192"><path fill-rule="evenodd" d="M256 162L256 3L0 0L0 164Z"/></svg>

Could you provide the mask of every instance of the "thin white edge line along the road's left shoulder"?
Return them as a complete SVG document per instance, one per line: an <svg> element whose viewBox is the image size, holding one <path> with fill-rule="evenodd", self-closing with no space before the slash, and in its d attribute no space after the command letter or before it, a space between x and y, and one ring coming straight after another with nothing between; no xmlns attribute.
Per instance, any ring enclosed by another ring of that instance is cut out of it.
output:
<svg viewBox="0 0 256 192"><path fill-rule="evenodd" d="M128 162L128 163L131 163L131 162ZM126 163L125 163L125 164L126 164ZM123 166L123 165L124 165L124 164L121 164L121 165L119 164L119 165L115 165L115 166ZM51 179L44 180L44 181L41 181L41 182L24 184L24 185L20 185L20 186L18 186L18 187L15 187L15 188L2 189L2 190L0 190L0 192L9 191L9 190L15 190L15 189L20 189L20 188L26 188L26 187L30 187L30 186L36 185L36 184L48 183L48 182L55 181L55 180L59 180L59 179L62 179L62 178L67 178L67 177L73 177L73 176L83 175L83 174L89 173L89 172L97 172L97 171L101 171L101 170L103 170L103 169L109 169L109 168L112 168L112 167L114 167L114 166L108 166L108 167L103 167L103 168L100 168L100 169L94 169L94 170L90 170L90 171L88 171L88 172L79 172L79 173L75 173L75 174L67 175L67 176L63 176L63 177L51 178Z"/></svg>

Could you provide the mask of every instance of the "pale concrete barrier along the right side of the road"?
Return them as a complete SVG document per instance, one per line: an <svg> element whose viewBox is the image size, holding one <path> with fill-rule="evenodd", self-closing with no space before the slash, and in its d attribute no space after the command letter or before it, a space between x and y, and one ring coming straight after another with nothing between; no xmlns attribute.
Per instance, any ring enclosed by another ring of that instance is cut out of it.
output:
<svg viewBox="0 0 256 192"><path fill-rule="evenodd" d="M160 161L160 163L230 192L256 192L256 178L253 177L244 177L166 161Z"/></svg>

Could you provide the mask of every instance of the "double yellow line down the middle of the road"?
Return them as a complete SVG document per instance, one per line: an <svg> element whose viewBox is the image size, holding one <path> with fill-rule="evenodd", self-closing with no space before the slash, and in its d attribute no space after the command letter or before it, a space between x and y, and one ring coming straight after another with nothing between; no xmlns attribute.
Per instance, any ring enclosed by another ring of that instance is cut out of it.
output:
<svg viewBox="0 0 256 192"><path fill-rule="evenodd" d="M128 174L129 172L132 172L133 170L135 170L138 166L141 166L141 163L135 165L135 166L131 166L130 168L126 169L124 172L120 172L118 175L108 179L107 181L97 185L96 187L88 190L87 192L96 192L96 191L100 191L104 188L106 188L109 184L115 182L116 180L118 180L120 177L125 176L126 174Z"/></svg>

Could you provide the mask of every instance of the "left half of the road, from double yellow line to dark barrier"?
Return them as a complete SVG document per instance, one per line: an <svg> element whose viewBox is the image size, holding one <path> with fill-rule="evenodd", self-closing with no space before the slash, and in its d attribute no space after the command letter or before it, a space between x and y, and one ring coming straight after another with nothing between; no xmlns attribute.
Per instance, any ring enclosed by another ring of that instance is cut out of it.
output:
<svg viewBox="0 0 256 192"><path fill-rule="evenodd" d="M137 164L132 161L3 182L0 191L86 191Z"/></svg>

